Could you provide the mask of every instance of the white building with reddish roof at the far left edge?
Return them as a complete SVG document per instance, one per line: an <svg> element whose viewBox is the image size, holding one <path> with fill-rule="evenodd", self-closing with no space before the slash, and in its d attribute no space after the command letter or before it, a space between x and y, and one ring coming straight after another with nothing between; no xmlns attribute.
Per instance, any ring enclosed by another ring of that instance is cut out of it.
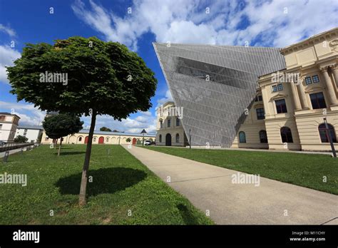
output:
<svg viewBox="0 0 338 248"><path fill-rule="evenodd" d="M16 128L20 117L7 112L0 112L0 140L8 143L14 142Z"/></svg>

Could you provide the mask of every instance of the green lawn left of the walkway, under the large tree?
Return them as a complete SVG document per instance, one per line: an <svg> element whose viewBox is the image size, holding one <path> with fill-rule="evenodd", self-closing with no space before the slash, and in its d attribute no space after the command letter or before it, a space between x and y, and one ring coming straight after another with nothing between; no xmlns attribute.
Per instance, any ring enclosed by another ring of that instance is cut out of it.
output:
<svg viewBox="0 0 338 248"><path fill-rule="evenodd" d="M78 207L85 149L68 145L57 157L43 145L0 162L0 174L28 177L26 187L0 185L0 224L213 224L119 145L93 145L88 203Z"/></svg>

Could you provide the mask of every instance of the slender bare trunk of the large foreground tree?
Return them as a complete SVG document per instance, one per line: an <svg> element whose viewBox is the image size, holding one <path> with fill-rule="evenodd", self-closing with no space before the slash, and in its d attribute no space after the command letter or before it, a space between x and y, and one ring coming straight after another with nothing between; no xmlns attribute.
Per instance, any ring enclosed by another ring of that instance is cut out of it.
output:
<svg viewBox="0 0 338 248"><path fill-rule="evenodd" d="M88 168L89 161L91 160L91 144L93 143L93 134L96 123L96 112L93 110L93 115L91 116L91 128L89 129L88 143L86 148L86 157L83 163L82 177L81 177L81 187L80 195L78 198L78 204L80 206L86 205L86 187L88 182Z"/></svg>

